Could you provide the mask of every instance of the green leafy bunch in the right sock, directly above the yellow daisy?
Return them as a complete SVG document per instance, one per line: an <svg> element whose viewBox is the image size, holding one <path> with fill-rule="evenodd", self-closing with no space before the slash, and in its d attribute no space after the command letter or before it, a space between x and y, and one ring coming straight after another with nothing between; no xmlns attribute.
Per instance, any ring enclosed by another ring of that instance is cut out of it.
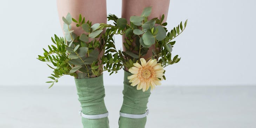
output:
<svg viewBox="0 0 256 128"><path fill-rule="evenodd" d="M148 53L149 47L154 45L151 58L157 59L163 67L177 63L181 58L178 55L171 58L171 52L176 38L180 35L187 26L187 20L184 24L182 22L174 27L170 32L164 27L167 22L163 22L164 15L161 19L153 18L148 20L151 13L151 7L144 8L140 16L131 16L130 23L127 23L125 18L117 18L115 15L109 15L108 19L114 21L116 29L121 30L121 34L125 35L123 42L126 50L124 52L117 52L124 65L124 68L129 69L133 67L133 63L139 62L140 58ZM183 27L184 26L184 27ZM147 60L151 59L147 58Z"/></svg>

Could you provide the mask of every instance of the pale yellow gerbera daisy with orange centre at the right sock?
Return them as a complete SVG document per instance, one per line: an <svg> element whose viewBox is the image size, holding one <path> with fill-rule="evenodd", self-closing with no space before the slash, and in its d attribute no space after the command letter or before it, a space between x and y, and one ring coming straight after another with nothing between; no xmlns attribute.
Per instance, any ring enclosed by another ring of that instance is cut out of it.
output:
<svg viewBox="0 0 256 128"><path fill-rule="evenodd" d="M151 90L155 88L156 85L161 85L163 80L163 67L160 63L157 63L156 59L150 59L148 62L144 58L140 59L141 65L136 62L134 67L129 68L129 72L133 75L128 76L131 86L137 85L137 90L142 89L143 92L151 87Z"/></svg>

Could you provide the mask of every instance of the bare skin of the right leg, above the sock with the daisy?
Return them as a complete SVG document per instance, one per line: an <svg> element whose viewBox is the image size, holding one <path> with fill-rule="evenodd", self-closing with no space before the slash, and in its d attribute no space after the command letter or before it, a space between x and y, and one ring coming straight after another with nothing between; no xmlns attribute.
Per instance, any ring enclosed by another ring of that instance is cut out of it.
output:
<svg viewBox="0 0 256 128"><path fill-rule="evenodd" d="M148 17L149 20L156 17L161 18L162 14L164 14L165 17L163 21L165 22L168 14L169 3L170 0L122 0L122 18L126 18L129 23L130 16L140 16L144 7L152 6L152 12ZM151 49L153 47L154 45L149 48L147 55L143 58L148 59L151 57ZM125 50L124 46L123 49Z"/></svg>

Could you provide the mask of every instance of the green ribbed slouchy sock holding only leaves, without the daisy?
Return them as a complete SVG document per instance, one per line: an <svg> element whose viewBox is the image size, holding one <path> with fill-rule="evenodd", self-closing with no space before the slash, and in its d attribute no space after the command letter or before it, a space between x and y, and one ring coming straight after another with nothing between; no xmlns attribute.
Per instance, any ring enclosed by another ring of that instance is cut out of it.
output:
<svg viewBox="0 0 256 128"><path fill-rule="evenodd" d="M104 102L103 75L96 78L75 79L75 84L83 114L98 115L108 112ZM82 117L82 123L83 128L109 128L108 117L100 119Z"/></svg>

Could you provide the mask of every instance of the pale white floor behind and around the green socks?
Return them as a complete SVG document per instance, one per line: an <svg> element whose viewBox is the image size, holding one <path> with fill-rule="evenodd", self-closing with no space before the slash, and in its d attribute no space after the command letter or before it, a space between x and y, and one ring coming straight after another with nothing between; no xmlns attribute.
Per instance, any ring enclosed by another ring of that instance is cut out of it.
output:
<svg viewBox="0 0 256 128"><path fill-rule="evenodd" d="M110 128L118 128L122 87L106 87ZM0 128L82 128L75 87L0 86ZM256 86L159 86L146 128L256 128Z"/></svg>

